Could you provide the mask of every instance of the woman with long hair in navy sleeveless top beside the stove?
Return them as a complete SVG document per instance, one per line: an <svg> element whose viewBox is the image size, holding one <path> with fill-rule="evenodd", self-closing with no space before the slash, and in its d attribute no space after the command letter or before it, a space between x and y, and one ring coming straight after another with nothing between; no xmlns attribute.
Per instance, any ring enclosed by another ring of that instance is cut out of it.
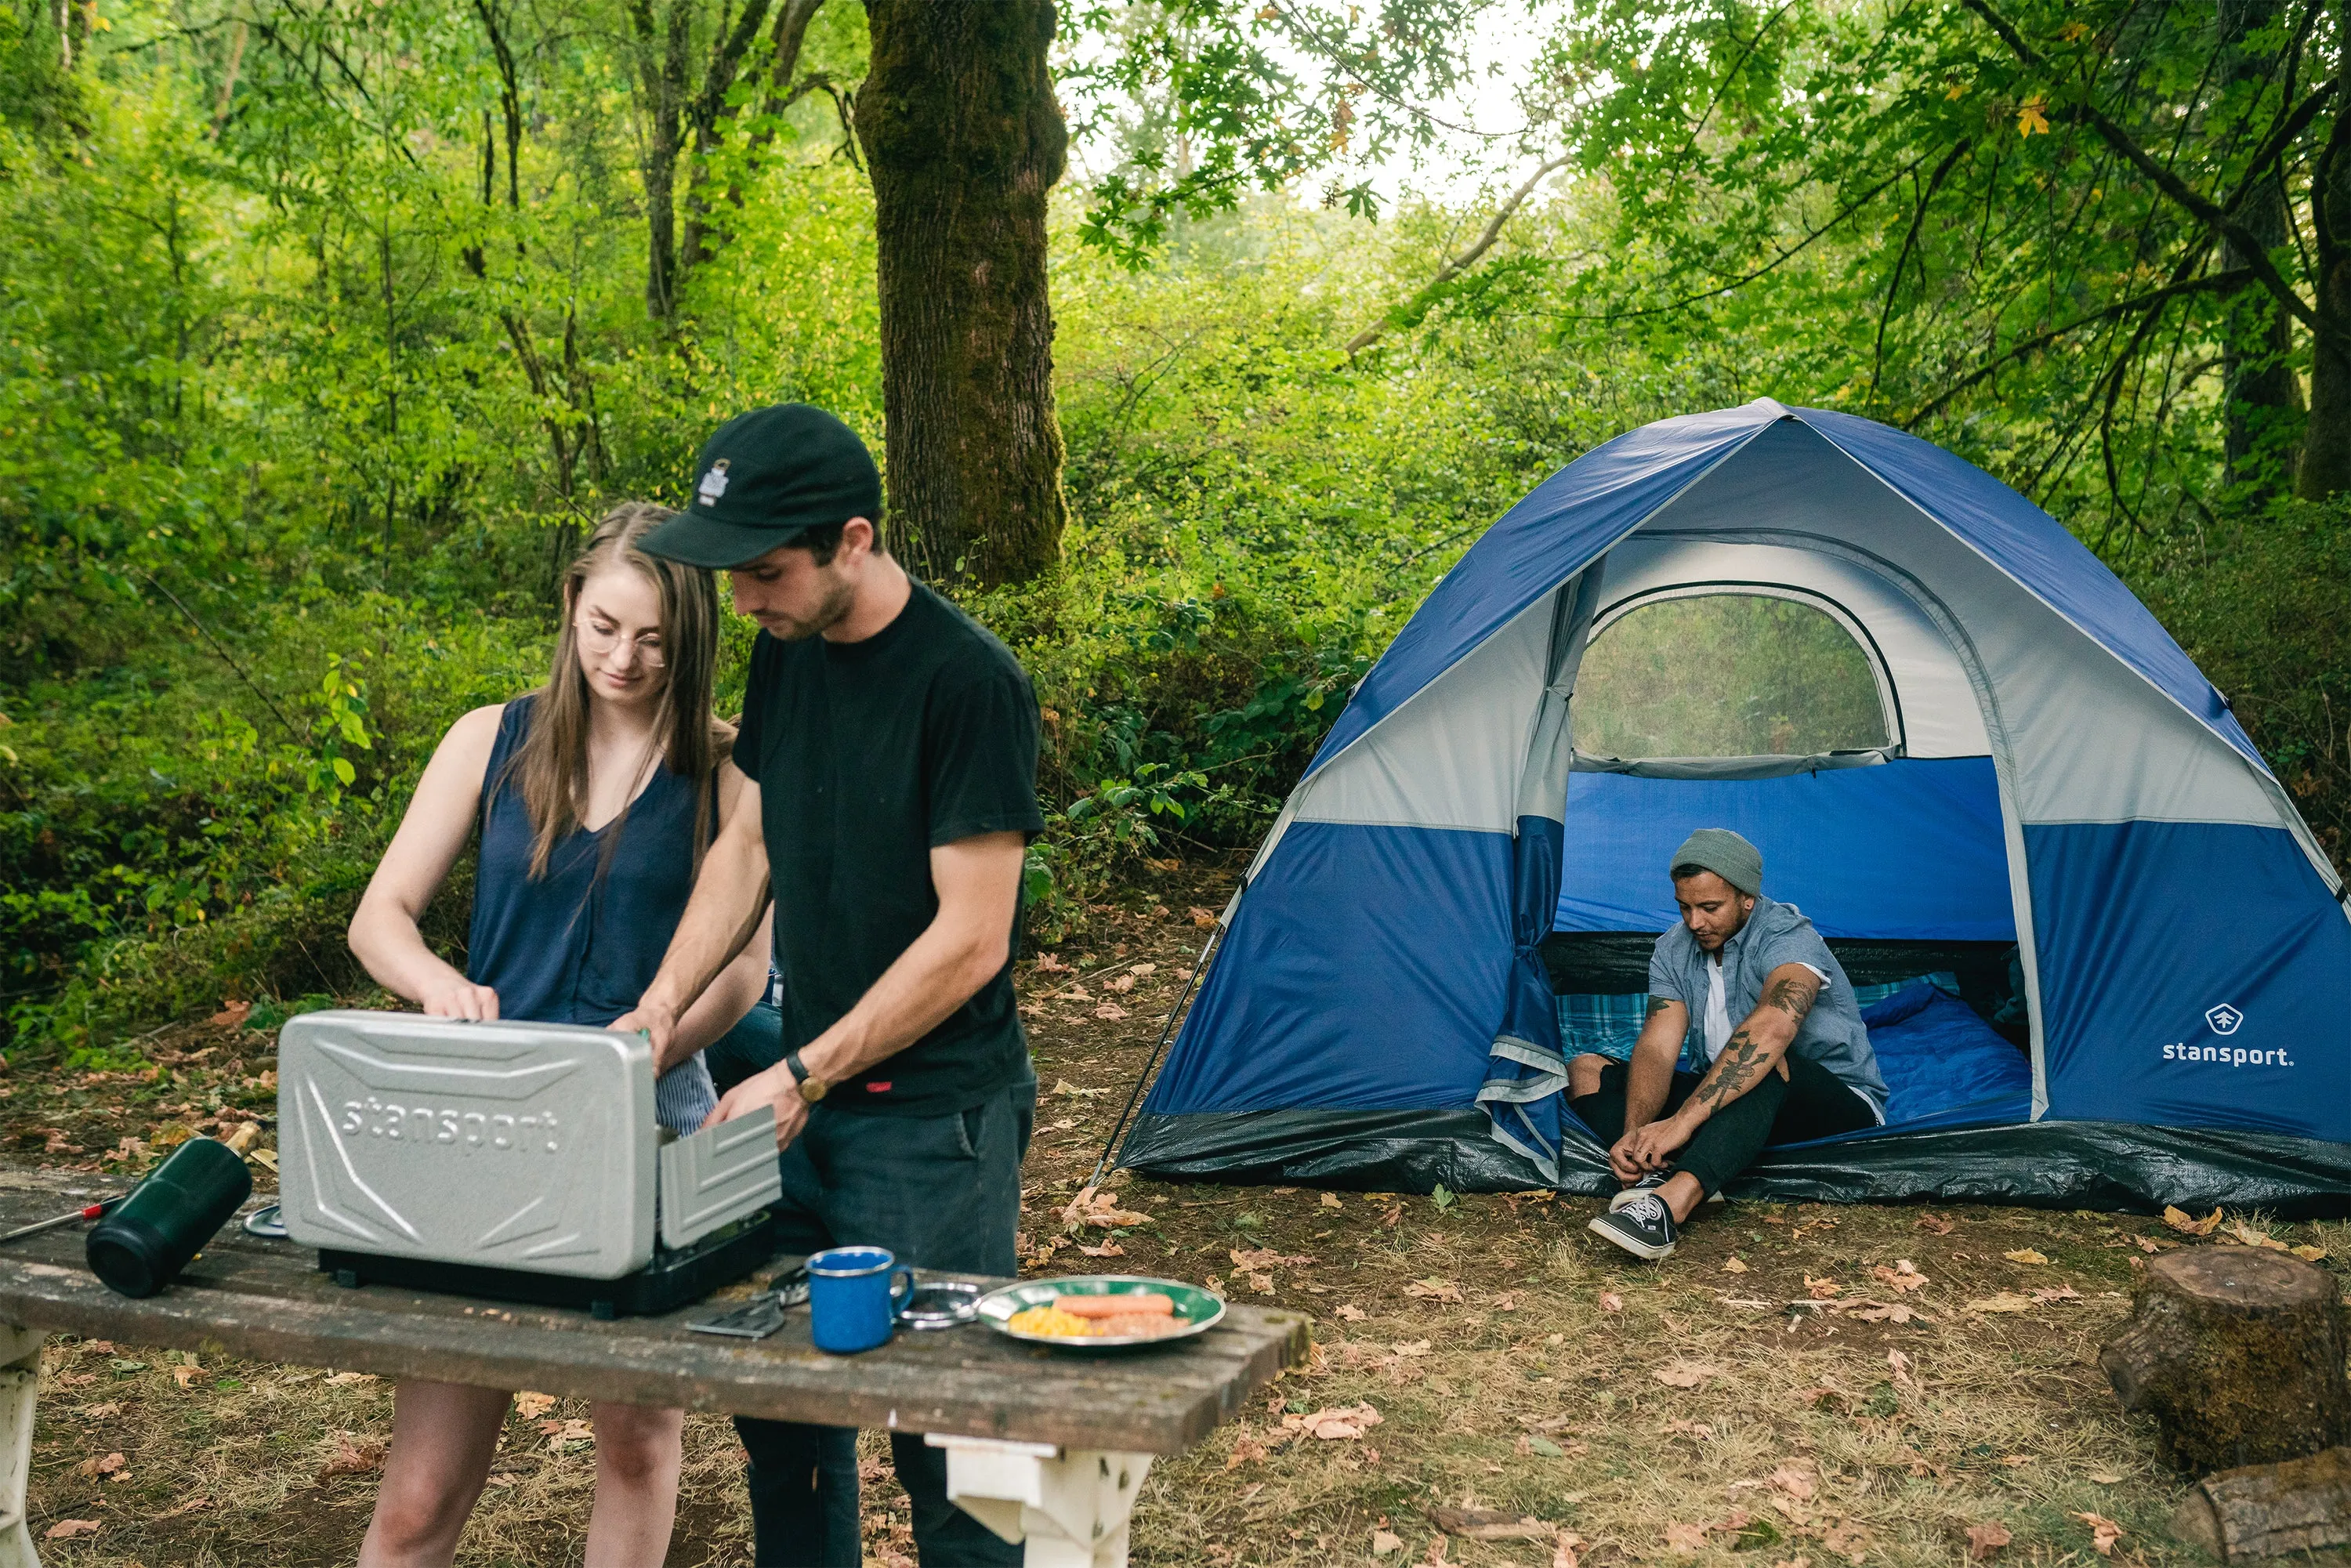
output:
<svg viewBox="0 0 2351 1568"><path fill-rule="evenodd" d="M449 726L350 922L350 950L435 1018L607 1025L661 969L729 790L734 731L710 717L717 588L637 550L672 512L611 510L564 576L548 684ZM480 825L465 971L426 947L418 917ZM766 987L759 933L686 1013L694 1056L654 1086L691 1133L717 1105L701 1046ZM362 1568L444 1566L482 1495L510 1394L402 1382ZM595 1403L590 1568L658 1563L670 1547L682 1410Z"/></svg>

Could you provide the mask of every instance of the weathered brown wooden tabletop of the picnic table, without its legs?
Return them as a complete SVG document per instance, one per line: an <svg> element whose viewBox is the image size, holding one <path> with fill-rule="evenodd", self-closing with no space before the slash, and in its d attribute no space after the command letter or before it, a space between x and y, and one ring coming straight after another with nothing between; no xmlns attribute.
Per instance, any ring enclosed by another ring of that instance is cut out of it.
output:
<svg viewBox="0 0 2351 1568"><path fill-rule="evenodd" d="M68 1190L110 1187L80 1173L0 1171L0 1227L87 1201ZM0 1248L0 1321L386 1378L1065 1448L1183 1453L1307 1349L1305 1316L1234 1305L1204 1335L1114 1356L1025 1347L976 1324L828 1356L809 1342L804 1309L766 1340L719 1340L684 1328L717 1309L708 1302L600 1324L552 1307L346 1291L308 1248L235 1227L176 1286L129 1300L82 1267L82 1239L66 1227Z"/></svg>

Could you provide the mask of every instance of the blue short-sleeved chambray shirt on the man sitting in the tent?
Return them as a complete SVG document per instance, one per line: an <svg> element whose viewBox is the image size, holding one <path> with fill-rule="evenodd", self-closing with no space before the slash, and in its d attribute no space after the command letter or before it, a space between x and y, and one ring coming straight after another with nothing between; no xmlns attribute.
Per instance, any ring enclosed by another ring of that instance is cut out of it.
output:
<svg viewBox="0 0 2351 1568"><path fill-rule="evenodd" d="M1660 936L1657 947L1648 954L1648 994L1690 1009L1693 1030L1700 1030L1707 1016L1707 964L1712 964L1707 950L1681 922L1674 922L1674 929ZM1846 980L1836 954L1796 905L1756 893L1754 914L1747 917L1737 936L1723 943L1723 1006L1730 1011L1730 1027L1735 1030L1742 1018L1756 1011L1763 1001L1763 980L1782 964L1808 964L1829 976L1813 1011L1796 1025L1789 1056L1801 1056L1834 1072L1841 1084L1869 1100L1869 1110L1883 1124L1886 1079L1878 1077L1878 1056L1869 1048L1869 1030L1862 1027L1853 983Z"/></svg>

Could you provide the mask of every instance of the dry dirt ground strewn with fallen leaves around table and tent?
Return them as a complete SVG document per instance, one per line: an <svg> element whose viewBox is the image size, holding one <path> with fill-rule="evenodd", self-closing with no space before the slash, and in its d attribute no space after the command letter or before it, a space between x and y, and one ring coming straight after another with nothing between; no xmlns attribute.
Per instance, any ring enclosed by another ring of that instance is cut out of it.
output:
<svg viewBox="0 0 2351 1568"><path fill-rule="evenodd" d="M1639 1265L1585 1232L1594 1199L1145 1180L1107 1187L1147 1222L1072 1229L1063 1213L1225 896L1218 872L1154 877L1096 912L1093 940L1020 971L1041 1086L1025 1272L1168 1274L1295 1307L1317 1319L1317 1354L1246 1420L1152 1469L1138 1566L2191 1556L2163 1528L2182 1486L2095 1356L2137 1260L2226 1232L1730 1204L1704 1208L1672 1260ZM0 1081L12 1157L122 1173L261 1119L266 1159L273 1041L235 1023L148 1037L146 1072ZM2323 1267L2351 1255L2346 1225L2226 1225L2323 1251ZM508 1418L461 1563L578 1561L585 1408L529 1403ZM348 1563L390 1410L390 1385L331 1368L54 1340L33 1535L61 1568ZM912 1563L905 1500L882 1448L865 1455L868 1561ZM1500 1514L1514 1537L1448 1535L1436 1509ZM694 1418L670 1563L748 1566L748 1542L734 1434Z"/></svg>

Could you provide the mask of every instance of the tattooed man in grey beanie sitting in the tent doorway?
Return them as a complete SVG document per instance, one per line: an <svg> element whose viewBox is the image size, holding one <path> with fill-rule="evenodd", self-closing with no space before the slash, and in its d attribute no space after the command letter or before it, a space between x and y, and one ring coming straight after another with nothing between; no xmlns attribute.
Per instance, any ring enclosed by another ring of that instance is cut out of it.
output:
<svg viewBox="0 0 2351 1568"><path fill-rule="evenodd" d="M1681 924L1648 959L1632 1060L1568 1063L1568 1107L1610 1145L1625 1182L1592 1229L1636 1258L1672 1253L1690 1211L1766 1145L1886 1121L1853 983L1810 919L1763 896L1763 853L1728 827L1700 827L1672 875ZM1693 1016L1704 1074L1674 1070Z"/></svg>

